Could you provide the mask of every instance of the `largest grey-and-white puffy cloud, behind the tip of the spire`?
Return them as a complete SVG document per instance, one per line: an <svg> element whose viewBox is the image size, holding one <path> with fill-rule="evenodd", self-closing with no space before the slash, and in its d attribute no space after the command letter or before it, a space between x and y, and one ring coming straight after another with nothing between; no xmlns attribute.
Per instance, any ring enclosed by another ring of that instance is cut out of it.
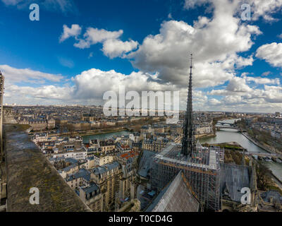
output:
<svg viewBox="0 0 282 226"><path fill-rule="evenodd" d="M213 18L200 17L194 25L169 20L159 34L148 35L137 51L128 54L141 71L159 73L162 82L184 85L189 53L194 53L195 87L221 85L233 78L235 69L252 65L252 56L238 57L252 47L252 36L261 32L255 25L235 18L236 1L213 1ZM191 5L192 6L192 5Z"/></svg>

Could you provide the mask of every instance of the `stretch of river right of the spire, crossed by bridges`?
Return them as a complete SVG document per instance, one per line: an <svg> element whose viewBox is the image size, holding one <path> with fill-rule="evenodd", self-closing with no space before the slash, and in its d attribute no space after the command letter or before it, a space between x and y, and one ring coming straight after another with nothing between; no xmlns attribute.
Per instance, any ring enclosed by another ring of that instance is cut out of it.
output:
<svg viewBox="0 0 282 226"><path fill-rule="evenodd" d="M234 119L224 120L224 122L233 123ZM265 150L259 148L259 146L252 143L241 133L238 133L235 129L221 129L216 131L216 137L213 138L202 138L200 143L226 143L235 141L239 143L243 148L246 148L250 153L266 153ZM264 165L271 169L272 173L280 179L282 182L282 163L278 162L264 162Z"/></svg>

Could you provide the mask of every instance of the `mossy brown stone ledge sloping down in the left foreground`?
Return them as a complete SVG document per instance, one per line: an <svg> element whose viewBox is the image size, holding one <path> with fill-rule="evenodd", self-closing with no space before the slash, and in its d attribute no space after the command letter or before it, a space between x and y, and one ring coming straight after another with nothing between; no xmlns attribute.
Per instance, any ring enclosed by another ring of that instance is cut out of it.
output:
<svg viewBox="0 0 282 226"><path fill-rule="evenodd" d="M23 125L4 125L8 212L91 211L29 140ZM39 189L39 204L30 204L30 189Z"/></svg>

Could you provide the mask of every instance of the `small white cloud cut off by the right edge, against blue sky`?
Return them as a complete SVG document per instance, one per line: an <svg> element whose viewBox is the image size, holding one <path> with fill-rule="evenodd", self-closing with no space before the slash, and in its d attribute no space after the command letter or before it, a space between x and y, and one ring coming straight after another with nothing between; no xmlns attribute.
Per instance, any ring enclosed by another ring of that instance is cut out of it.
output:
<svg viewBox="0 0 282 226"><path fill-rule="evenodd" d="M256 57L264 59L272 66L282 67L282 43L272 42L257 49Z"/></svg>

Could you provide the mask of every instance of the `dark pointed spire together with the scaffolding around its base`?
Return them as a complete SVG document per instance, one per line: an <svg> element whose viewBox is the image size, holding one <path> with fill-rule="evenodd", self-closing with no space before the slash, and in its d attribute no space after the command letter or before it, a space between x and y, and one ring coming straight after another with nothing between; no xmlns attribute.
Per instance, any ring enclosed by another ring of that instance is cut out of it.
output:
<svg viewBox="0 0 282 226"><path fill-rule="evenodd" d="M224 152L224 150L223 150ZM200 201L201 210L221 209L220 165L221 151L218 148L205 148L197 143L192 117L192 54L188 83L188 100L183 123L182 145L171 143L154 156L152 167L152 187L161 189L176 177L182 169L190 188Z"/></svg>

